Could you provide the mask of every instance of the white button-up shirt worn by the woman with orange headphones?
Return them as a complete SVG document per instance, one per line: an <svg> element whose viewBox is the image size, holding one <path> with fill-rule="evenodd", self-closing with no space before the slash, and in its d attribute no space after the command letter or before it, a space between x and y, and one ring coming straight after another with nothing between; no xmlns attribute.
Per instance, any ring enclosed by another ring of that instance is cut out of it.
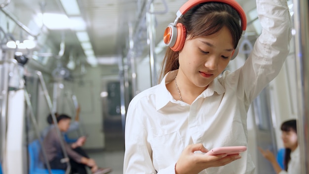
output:
<svg viewBox="0 0 309 174"><path fill-rule="evenodd" d="M286 0L257 0L261 36L245 64L216 78L191 105L166 88L177 70L136 95L125 126L124 174L175 174L175 164L190 144L208 150L247 146L247 111L254 98L279 73L289 52L291 18ZM253 174L250 154L200 174Z"/></svg>

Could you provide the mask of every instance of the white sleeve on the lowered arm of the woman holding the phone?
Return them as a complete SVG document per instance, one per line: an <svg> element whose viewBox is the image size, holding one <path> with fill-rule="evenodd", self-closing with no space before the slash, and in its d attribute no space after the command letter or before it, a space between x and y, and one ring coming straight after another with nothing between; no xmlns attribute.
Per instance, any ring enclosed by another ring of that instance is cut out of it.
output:
<svg viewBox="0 0 309 174"><path fill-rule="evenodd" d="M143 124L142 108L134 99L128 108L123 174L175 174L175 163L160 171L154 169L152 148Z"/></svg>

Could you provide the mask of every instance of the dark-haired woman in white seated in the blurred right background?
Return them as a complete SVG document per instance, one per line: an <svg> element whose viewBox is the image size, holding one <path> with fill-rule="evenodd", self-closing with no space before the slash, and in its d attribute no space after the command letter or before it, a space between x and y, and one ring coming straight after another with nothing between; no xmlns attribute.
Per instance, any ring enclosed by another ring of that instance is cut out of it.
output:
<svg viewBox="0 0 309 174"><path fill-rule="evenodd" d="M297 141L297 124L296 120L289 120L281 125L282 141L285 147L284 153L284 170L282 170L276 161L273 153L269 150L259 148L262 155L270 161L276 174L301 174L301 159Z"/></svg>

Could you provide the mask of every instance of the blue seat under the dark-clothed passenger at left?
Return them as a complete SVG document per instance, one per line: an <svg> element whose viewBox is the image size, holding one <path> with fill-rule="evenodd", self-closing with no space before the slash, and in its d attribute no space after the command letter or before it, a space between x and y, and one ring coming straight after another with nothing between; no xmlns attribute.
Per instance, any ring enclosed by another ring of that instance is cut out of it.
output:
<svg viewBox="0 0 309 174"><path fill-rule="evenodd" d="M41 145L36 139L28 145L29 151L29 174L49 174L48 169L44 168L44 164L39 160L39 152ZM52 174L65 174L64 170L52 169Z"/></svg>

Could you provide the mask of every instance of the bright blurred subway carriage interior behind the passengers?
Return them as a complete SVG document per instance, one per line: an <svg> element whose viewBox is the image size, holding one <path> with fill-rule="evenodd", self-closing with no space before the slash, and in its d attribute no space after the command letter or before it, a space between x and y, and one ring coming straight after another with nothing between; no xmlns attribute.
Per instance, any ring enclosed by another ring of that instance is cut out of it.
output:
<svg viewBox="0 0 309 174"><path fill-rule="evenodd" d="M0 173L60 174L37 163L47 116L64 113L79 122L67 138L86 136L83 148L98 166L122 174L126 109L132 97L157 84L166 48L164 29L185 1L2 0ZM248 27L230 71L243 65L261 34L255 0L237 1ZM287 2L295 20L296 0ZM281 72L248 112L255 174L275 174L258 147L279 155L280 124L300 119L293 31Z"/></svg>

